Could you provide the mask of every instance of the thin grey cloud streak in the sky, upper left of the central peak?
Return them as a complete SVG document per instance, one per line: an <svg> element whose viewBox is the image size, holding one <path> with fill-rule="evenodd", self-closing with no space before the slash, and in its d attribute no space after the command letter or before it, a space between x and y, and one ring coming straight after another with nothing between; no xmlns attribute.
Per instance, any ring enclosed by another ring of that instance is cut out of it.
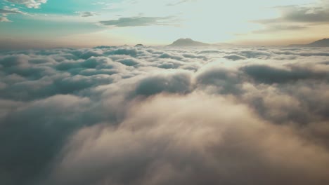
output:
<svg viewBox="0 0 329 185"><path fill-rule="evenodd" d="M101 25L115 27L143 27L150 25L170 25L170 17L131 17L119 18L118 20L103 20Z"/></svg>

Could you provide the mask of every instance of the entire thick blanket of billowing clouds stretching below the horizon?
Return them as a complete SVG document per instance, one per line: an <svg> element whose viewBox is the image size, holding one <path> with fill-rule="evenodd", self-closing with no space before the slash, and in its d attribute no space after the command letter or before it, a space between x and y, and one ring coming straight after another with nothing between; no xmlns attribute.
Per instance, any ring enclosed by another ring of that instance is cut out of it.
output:
<svg viewBox="0 0 329 185"><path fill-rule="evenodd" d="M0 53L0 184L329 184L325 48Z"/></svg>

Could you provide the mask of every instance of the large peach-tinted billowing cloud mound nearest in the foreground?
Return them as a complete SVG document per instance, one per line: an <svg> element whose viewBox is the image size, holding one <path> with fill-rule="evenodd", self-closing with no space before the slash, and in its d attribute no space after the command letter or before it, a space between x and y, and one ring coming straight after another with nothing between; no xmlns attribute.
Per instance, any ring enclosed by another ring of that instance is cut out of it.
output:
<svg viewBox="0 0 329 185"><path fill-rule="evenodd" d="M293 130L202 94L133 105L119 127L80 130L62 152L50 184L310 184L329 162Z"/></svg>

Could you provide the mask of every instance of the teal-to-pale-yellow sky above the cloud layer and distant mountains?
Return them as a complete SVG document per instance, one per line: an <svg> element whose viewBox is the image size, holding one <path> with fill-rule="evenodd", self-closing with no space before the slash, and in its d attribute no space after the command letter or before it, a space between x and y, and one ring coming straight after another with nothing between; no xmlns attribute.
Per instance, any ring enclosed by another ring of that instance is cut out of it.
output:
<svg viewBox="0 0 329 185"><path fill-rule="evenodd" d="M2 48L166 45L179 38L249 45L328 36L328 0L1 0Z"/></svg>

